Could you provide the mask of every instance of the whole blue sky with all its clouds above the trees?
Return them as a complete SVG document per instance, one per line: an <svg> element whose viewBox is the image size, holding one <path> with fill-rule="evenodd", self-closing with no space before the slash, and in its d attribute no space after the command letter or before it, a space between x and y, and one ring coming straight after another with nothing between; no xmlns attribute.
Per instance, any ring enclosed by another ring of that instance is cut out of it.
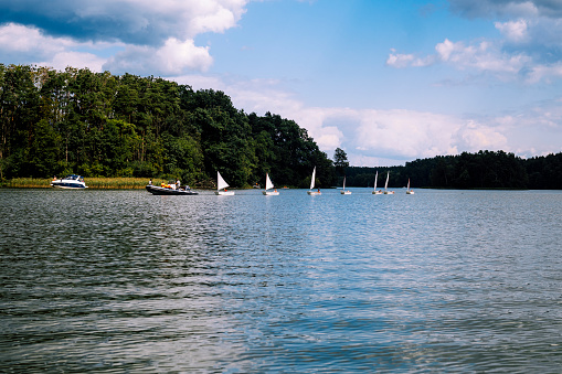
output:
<svg viewBox="0 0 562 374"><path fill-rule="evenodd" d="M356 167L562 151L562 0L0 0L0 63L222 90Z"/></svg>

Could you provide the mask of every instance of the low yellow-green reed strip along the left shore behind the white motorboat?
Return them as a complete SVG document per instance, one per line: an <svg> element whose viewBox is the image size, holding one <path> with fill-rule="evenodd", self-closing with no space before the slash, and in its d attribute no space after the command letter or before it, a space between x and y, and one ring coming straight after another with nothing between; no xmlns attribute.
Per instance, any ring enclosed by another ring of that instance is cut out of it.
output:
<svg viewBox="0 0 562 374"><path fill-rule="evenodd" d="M93 190L140 190L147 184L149 178L84 178L86 185ZM152 183L160 185L167 182L163 179L153 179ZM51 179L14 178L1 184L11 189L52 189Z"/></svg>

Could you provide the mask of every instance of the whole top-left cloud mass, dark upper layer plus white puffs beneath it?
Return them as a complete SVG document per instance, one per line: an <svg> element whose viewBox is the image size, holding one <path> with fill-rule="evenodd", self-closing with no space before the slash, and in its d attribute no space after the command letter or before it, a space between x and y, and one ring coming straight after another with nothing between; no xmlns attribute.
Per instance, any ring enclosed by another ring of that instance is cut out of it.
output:
<svg viewBox="0 0 562 374"><path fill-rule="evenodd" d="M209 46L195 45L195 36L235 26L247 1L2 1L0 24L7 25L0 28L0 47L11 62L19 57L56 68L67 58L67 65L114 74L205 72L213 58ZM86 45L93 51L82 52Z"/></svg>

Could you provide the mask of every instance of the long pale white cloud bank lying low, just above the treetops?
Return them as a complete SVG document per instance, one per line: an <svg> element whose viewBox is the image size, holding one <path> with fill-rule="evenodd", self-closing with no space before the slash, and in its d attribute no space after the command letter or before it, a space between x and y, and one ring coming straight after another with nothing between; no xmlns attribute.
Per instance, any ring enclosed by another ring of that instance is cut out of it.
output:
<svg viewBox="0 0 562 374"><path fill-rule="evenodd" d="M174 81L194 89L221 89L246 113L271 111L293 119L330 158L339 147L351 164L360 167L395 165L479 150L532 157L560 152L562 143L562 98L518 108L511 115L460 117L405 109L307 107L282 89L278 81L224 81L218 76L181 76ZM545 139L539 136L545 132Z"/></svg>

